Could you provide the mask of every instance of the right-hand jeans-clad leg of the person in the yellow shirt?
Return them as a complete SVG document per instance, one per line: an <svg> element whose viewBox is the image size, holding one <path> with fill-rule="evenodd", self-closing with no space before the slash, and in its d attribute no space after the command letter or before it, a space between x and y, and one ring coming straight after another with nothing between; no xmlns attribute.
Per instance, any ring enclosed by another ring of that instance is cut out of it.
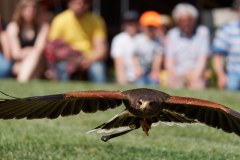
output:
<svg viewBox="0 0 240 160"><path fill-rule="evenodd" d="M104 62L95 62L87 69L87 77L95 83L106 82L106 64Z"/></svg>

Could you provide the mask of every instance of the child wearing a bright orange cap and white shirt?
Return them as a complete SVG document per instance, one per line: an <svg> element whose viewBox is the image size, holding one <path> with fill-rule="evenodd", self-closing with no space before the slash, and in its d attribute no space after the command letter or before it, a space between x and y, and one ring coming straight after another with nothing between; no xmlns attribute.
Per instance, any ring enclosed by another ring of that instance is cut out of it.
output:
<svg viewBox="0 0 240 160"><path fill-rule="evenodd" d="M157 40L158 28L161 27L160 14L146 11L140 16L141 34L135 38L135 62L139 67L136 84L157 85L163 62L163 47Z"/></svg>

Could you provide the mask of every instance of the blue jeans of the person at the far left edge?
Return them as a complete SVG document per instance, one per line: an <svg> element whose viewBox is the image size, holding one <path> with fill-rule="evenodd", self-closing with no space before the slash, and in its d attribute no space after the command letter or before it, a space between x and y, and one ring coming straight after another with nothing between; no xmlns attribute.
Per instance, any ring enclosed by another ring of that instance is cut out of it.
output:
<svg viewBox="0 0 240 160"><path fill-rule="evenodd" d="M7 78L11 76L12 63L6 60L0 52L0 78Z"/></svg>

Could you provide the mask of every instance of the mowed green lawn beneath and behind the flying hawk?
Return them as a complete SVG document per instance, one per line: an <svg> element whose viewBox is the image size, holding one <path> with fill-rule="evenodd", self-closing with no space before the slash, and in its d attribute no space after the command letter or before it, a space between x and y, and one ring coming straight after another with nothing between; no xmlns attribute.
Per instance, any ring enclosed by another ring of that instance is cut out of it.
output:
<svg viewBox="0 0 240 160"><path fill-rule="evenodd" d="M147 87L147 86L145 86ZM33 81L19 84L1 80L0 90L16 97L80 90L126 90L136 86L96 85L83 82ZM172 95L216 101L240 111L240 93L215 89L171 90ZM0 98L6 98L0 95ZM0 120L0 159L6 160L239 160L240 137L204 125L159 126L146 136L139 129L105 143L86 132L124 109L80 113L55 120Z"/></svg>

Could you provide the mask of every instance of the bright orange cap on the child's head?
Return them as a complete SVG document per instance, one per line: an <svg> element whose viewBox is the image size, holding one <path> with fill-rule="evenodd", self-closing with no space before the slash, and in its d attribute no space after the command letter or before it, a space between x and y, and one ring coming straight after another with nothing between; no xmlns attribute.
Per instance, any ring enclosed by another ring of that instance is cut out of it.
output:
<svg viewBox="0 0 240 160"><path fill-rule="evenodd" d="M146 11L141 15L139 23L142 26L160 27L161 26L160 20L161 17L159 13L155 11Z"/></svg>

